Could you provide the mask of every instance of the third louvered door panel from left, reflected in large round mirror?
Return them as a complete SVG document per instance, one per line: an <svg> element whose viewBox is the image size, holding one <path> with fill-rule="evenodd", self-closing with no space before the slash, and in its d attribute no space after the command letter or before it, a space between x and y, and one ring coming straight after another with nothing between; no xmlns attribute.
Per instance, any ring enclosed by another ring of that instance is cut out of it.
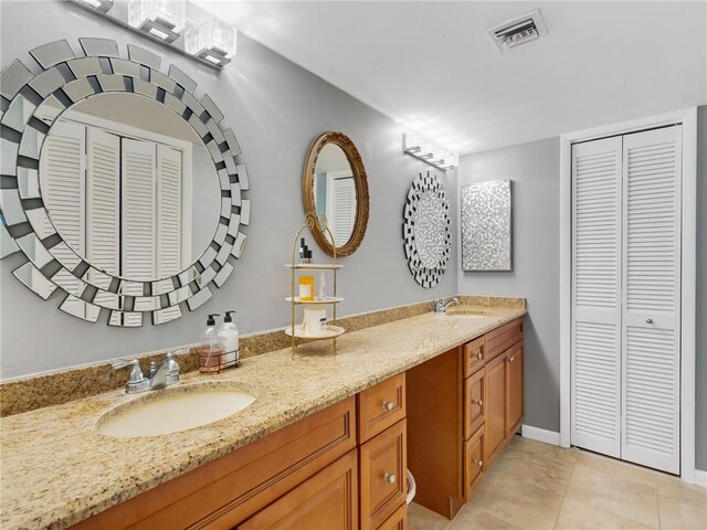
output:
<svg viewBox="0 0 707 530"><path fill-rule="evenodd" d="M122 275L136 280L155 278L156 153L151 141L122 140Z"/></svg>

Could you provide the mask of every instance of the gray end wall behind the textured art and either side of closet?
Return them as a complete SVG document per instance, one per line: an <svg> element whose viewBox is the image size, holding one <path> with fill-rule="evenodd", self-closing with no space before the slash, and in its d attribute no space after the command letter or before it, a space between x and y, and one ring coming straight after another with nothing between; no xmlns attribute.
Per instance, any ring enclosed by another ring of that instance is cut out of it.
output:
<svg viewBox="0 0 707 530"><path fill-rule="evenodd" d="M697 344L696 467L707 469L707 106L697 124ZM559 139L523 144L462 157L458 186L513 179L514 271L464 273L460 294L528 299L526 424L560 430ZM461 259L461 256L460 256Z"/></svg>

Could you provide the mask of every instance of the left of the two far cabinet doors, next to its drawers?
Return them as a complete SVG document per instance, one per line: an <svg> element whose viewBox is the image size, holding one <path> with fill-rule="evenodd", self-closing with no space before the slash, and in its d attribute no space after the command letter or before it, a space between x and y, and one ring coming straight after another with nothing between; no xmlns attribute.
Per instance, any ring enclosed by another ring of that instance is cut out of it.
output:
<svg viewBox="0 0 707 530"><path fill-rule="evenodd" d="M506 439L506 356L486 364L486 422L484 456L490 466Z"/></svg>

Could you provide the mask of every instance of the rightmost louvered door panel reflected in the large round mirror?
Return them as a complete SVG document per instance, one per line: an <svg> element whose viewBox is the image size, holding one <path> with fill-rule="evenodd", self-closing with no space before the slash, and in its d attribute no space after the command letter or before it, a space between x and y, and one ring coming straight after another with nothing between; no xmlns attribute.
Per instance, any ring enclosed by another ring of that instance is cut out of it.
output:
<svg viewBox="0 0 707 530"><path fill-rule="evenodd" d="M157 146L157 275L180 273L182 237L182 155L178 149ZM191 236L191 234L188 234Z"/></svg>

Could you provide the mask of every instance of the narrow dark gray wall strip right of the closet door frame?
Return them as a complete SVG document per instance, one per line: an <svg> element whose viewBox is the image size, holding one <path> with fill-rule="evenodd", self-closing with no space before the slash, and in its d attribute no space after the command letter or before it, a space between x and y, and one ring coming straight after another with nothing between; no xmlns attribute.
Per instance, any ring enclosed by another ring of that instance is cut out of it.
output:
<svg viewBox="0 0 707 530"><path fill-rule="evenodd" d="M707 106L697 112L697 441L695 466L707 469Z"/></svg>

